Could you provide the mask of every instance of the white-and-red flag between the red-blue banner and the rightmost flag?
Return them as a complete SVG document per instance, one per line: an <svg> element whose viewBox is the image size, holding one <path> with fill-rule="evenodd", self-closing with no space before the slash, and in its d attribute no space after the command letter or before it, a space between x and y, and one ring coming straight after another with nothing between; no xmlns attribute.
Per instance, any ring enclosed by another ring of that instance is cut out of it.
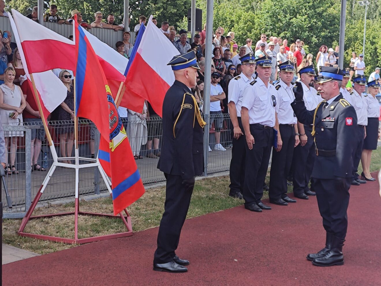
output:
<svg viewBox="0 0 381 286"><path fill-rule="evenodd" d="M80 26L80 28L85 33L91 47L98 56L99 63L102 66L111 94L115 100L120 84L126 79L124 72L128 64L128 59L86 31L82 26ZM144 106L144 98L136 94L128 94L124 91L120 106L141 113Z"/></svg>

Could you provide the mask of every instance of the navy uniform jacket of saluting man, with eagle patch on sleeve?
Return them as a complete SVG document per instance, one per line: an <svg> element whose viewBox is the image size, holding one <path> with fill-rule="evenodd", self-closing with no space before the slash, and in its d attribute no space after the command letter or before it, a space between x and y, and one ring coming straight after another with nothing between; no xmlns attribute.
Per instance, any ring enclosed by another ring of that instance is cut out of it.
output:
<svg viewBox="0 0 381 286"><path fill-rule="evenodd" d="M291 103L299 122L315 126L314 140L318 156L315 157L312 177L350 178L353 168L352 152L356 140L356 111L343 99L341 93L327 108L324 107L325 104L326 102L322 101L315 110L307 111L304 101Z"/></svg>

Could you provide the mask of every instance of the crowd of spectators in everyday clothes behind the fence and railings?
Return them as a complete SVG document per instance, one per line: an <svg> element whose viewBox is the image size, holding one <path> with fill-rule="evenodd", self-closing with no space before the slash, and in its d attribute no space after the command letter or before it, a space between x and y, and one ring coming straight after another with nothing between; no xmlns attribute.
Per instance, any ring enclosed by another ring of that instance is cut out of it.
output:
<svg viewBox="0 0 381 286"><path fill-rule="evenodd" d="M8 13L4 10L5 3L0 0L0 16L8 16ZM44 21L53 22L58 24L73 24L74 16L77 15L77 20L81 26L85 29L101 28L112 29L114 31L120 31L124 29L124 23L116 24L115 16L108 14L104 20L102 12L98 11L94 13L94 21L90 24L83 21L82 13L78 10L71 11L71 17L69 19L63 19L58 13L58 7L56 5L50 5L49 9L44 15ZM37 6L33 7L32 13L27 15L28 18L37 21ZM128 24L130 24L130 20ZM133 31L139 32L141 24L146 24L146 16L139 17L139 23L134 26ZM157 26L158 22L156 18L152 19L152 22ZM218 151L226 151L226 149L220 143L220 132L226 126L223 121L223 114L227 111L227 98L228 98L228 85L229 80L239 75L242 72L242 64L240 57L247 53L251 53L253 57L260 58L267 56L272 61L272 73L271 82L278 80L279 64L285 61L290 61L295 66L295 74L293 81L300 80L298 71L303 67L314 64L319 70L320 66L338 66L339 59L339 47L335 46L328 48L327 45L321 45L316 56L312 53L306 54L304 50L304 42L300 39L296 39L295 42L288 39L282 39L281 37L271 36L267 38L266 34L259 35L259 39L246 39L245 43L237 43L235 41L234 32L230 31L225 34L223 27L217 27L213 31L213 37L210 43L206 41L206 24L202 31L194 35L192 41L187 38L188 31L179 30L176 31L174 26L170 26L168 21L163 21L160 25L160 31L168 38L168 41L173 43L174 47L179 53L186 53L191 50L194 51L197 61L201 70L198 72L198 82L193 91L195 98L200 106L203 106L203 91L205 80L205 48L209 45L212 51L212 64L211 67L211 93L210 93L210 114L211 125L214 128L215 134L215 149ZM176 40L176 37L178 39ZM42 120L38 112L38 108L35 104L33 93L29 84L23 84L26 80L25 71L22 67L19 52L16 44L11 42L12 35L10 31L0 31L0 114L2 122L8 124L30 124L30 125L42 125ZM129 58L134 46L133 40L131 40L130 27L127 31L123 32L122 38L115 43L115 50L120 53L121 56ZM256 40L256 42L254 42ZM253 44L255 43L255 45ZM306 48L307 50L307 48ZM365 63L363 61L363 55L357 56L355 52L352 53L350 59L349 70L350 80L346 85L348 90L352 89L351 79L353 76L363 75L365 70ZM73 136L74 136L74 124L72 119L74 117L74 95L72 87L72 72L64 71L61 69L53 70L53 72L59 77L60 80L67 87L67 98L59 106L56 112L53 112L54 119L62 121L59 127L57 127L61 134L61 156L72 156ZM380 68L377 67L374 72L369 76L369 81L380 78ZM14 87L16 86L16 88ZM20 88L21 87L21 88ZM12 96L10 98L10 94ZM15 96L13 93L18 92ZM24 96L22 96L24 95ZM24 110L25 109L25 110ZM24 112L22 112L24 110ZM10 112L11 111L11 112ZM129 134L131 148L133 149L135 159L142 159L141 146L147 144L146 156L149 158L157 158L160 156L160 136L161 136L161 122L158 115L149 102L146 101L144 109L141 113L133 112L125 108L120 108L120 116L124 121L125 129ZM13 113L10 116L10 113ZM3 118L4 117L4 118ZM128 124L130 122L130 124ZM133 123L131 123L133 122ZM41 144L44 141L45 133L43 129L33 129L32 132L32 170L44 171L45 169L38 164L38 157L40 155ZM11 137L9 140L10 148L13 150L16 148L16 140L13 138L19 137L21 134L12 133L8 135ZM94 139L94 136L91 136ZM6 140L6 142L8 142ZM94 144L92 144L93 146ZM226 146L228 147L228 146ZM13 149L12 149L13 148ZM91 153L93 156L93 147ZM211 151L211 149L209 150ZM11 151L12 153L12 151ZM67 161L70 163L69 161ZM6 171L8 173L17 172L14 168L14 157L10 156L10 164L6 165Z"/></svg>

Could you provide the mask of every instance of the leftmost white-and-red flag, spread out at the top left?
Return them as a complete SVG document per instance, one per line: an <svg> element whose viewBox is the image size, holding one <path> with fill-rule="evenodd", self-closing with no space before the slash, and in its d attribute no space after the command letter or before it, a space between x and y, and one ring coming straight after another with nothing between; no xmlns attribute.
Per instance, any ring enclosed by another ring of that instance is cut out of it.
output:
<svg viewBox="0 0 381 286"><path fill-rule="evenodd" d="M77 66L75 43L12 9L19 40L30 73ZM74 30L73 30L74 31Z"/></svg>

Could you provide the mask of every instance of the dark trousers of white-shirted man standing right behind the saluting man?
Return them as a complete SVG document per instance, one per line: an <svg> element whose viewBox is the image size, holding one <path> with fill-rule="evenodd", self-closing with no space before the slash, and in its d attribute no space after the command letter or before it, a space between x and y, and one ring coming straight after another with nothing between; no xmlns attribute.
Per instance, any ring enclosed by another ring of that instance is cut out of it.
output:
<svg viewBox="0 0 381 286"><path fill-rule="evenodd" d="M314 167L316 156L314 137L311 135L312 127L304 125L304 131L307 135L307 143L304 146L301 146L300 144L296 146L293 156L293 191L296 195L309 191L308 183L311 179L312 167Z"/></svg>

